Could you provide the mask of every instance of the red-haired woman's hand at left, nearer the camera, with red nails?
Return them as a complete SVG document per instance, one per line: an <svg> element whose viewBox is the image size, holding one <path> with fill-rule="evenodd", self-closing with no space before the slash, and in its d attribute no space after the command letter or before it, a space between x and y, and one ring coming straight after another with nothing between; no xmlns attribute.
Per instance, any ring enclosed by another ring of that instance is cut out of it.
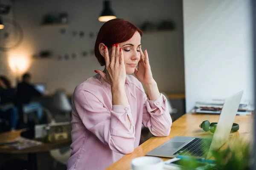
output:
<svg viewBox="0 0 256 170"><path fill-rule="evenodd" d="M98 74L111 85L111 88L119 88L125 85L126 71L124 55L118 44L112 47L111 57L108 54L108 48L104 46L104 58L106 63L106 73L96 70Z"/></svg>

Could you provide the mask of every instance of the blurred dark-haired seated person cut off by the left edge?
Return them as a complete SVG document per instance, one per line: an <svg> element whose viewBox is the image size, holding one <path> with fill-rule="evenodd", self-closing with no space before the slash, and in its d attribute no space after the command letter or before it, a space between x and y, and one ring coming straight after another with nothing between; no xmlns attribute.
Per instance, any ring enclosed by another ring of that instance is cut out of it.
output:
<svg viewBox="0 0 256 170"><path fill-rule="evenodd" d="M2 89L0 91L0 116L10 119L11 130L15 130L19 118L18 110L13 105L16 91L12 88L11 81L5 76L0 76L0 88Z"/></svg>

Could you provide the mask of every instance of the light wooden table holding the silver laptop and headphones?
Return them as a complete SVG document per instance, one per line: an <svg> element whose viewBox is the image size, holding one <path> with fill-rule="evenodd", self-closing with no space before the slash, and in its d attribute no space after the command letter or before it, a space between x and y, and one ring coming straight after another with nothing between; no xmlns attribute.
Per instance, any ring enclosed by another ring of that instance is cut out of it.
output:
<svg viewBox="0 0 256 170"><path fill-rule="evenodd" d="M209 114L191 114L187 113L173 122L171 132L167 137L151 137L146 142L134 149L134 152L127 154L119 161L116 161L106 170L130 170L131 160L140 156L145 156L146 153L160 146L164 142L175 136L198 136L198 137L212 137L213 133L204 132L199 125L204 120L209 122L218 122L219 115ZM253 119L252 116L236 116L234 123L239 124L239 131L230 133L229 144L233 144L236 139L243 137L245 140L251 140L253 130ZM162 158L166 161L170 158Z"/></svg>

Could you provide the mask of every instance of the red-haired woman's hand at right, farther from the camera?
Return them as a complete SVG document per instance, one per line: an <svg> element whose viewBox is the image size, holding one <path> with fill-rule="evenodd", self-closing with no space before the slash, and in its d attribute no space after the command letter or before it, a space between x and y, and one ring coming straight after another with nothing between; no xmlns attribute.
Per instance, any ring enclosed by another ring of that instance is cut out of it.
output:
<svg viewBox="0 0 256 170"><path fill-rule="evenodd" d="M151 83L155 83L155 81L153 79L151 68L149 65L147 50L145 50L144 53L145 55L140 49L140 61L138 62L138 69L135 68L134 74L141 83L143 83L144 85L148 85Z"/></svg>

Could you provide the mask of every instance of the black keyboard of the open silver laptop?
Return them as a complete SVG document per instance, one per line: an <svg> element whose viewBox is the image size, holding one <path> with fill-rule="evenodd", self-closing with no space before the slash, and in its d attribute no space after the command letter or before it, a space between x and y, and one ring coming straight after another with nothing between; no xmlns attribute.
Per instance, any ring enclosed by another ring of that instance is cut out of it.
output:
<svg viewBox="0 0 256 170"><path fill-rule="evenodd" d="M188 155L188 156L204 156L208 153L212 139L195 138L174 155Z"/></svg>

